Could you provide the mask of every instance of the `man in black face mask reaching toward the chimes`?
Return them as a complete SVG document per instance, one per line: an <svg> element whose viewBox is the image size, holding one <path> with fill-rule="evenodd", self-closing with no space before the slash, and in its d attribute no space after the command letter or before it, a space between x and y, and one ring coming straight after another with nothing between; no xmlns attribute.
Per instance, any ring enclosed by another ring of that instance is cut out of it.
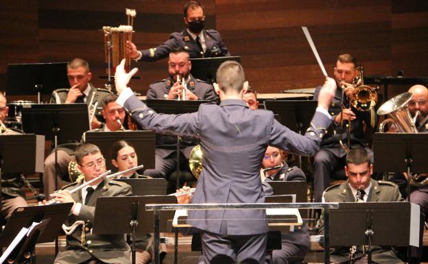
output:
<svg viewBox="0 0 428 264"><path fill-rule="evenodd" d="M173 49L182 48L189 52L190 58L209 58L230 56L219 32L204 29L205 16L198 1L189 1L185 5L184 18L186 28L174 32L169 40L152 49L138 51L134 43L128 42L127 48L134 60L155 61L167 58Z"/></svg>

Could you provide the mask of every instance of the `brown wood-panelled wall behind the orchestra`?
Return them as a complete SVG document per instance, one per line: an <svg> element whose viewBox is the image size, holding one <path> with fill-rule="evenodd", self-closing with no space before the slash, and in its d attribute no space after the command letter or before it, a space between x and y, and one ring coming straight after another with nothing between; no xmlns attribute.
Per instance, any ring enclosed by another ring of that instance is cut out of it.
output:
<svg viewBox="0 0 428 264"><path fill-rule="evenodd" d="M64 62L81 57L91 64L93 83L104 86L102 26L126 23L136 9L133 40L140 49L163 43L181 30L187 1L3 0L0 8L0 90L9 63ZM428 76L428 1L420 0L202 0L207 27L222 34L242 57L247 80L261 93L316 87L323 77L302 34L309 32L328 73L340 53L353 53L366 75ZM167 76L166 60L134 63L147 86ZM25 77L25 76L23 76Z"/></svg>

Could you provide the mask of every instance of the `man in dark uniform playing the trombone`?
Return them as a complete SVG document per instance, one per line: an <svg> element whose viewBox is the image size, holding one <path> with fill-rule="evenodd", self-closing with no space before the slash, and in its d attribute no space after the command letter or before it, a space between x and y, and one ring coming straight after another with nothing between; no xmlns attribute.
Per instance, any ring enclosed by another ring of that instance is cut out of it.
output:
<svg viewBox="0 0 428 264"><path fill-rule="evenodd" d="M346 152L340 144L348 141L347 125L350 121L350 146L366 147L370 157L373 152L368 148L368 140L364 132L366 128L375 128L375 112L357 111L350 108L349 97L354 93L354 85L351 84L357 77L357 59L350 54L342 54L337 57L334 69L334 77L338 88L335 97L329 107L331 120L333 123L329 127L329 132L324 136L321 149L316 154L313 163L313 184L315 189L315 202L321 202L322 192L329 187L330 177L336 169L344 166ZM316 88L313 99L319 98L321 86ZM343 94L343 96L342 96ZM342 100L343 105L342 106ZM341 110L343 111L341 113ZM342 117L341 117L342 116ZM341 124L341 120L343 123Z"/></svg>

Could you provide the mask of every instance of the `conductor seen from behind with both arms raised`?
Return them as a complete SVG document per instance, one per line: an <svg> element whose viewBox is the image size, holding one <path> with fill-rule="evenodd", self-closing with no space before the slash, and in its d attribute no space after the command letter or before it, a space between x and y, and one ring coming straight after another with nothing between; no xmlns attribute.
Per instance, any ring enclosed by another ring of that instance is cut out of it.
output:
<svg viewBox="0 0 428 264"><path fill-rule="evenodd" d="M242 100L248 83L237 62L224 62L217 69L215 91L221 104L202 104L198 112L185 115L162 115L147 108L127 87L137 69L126 73L124 62L115 74L117 101L134 120L156 132L200 139L204 162L193 194L195 204L263 203L259 169L268 145L313 155L331 123L326 112L336 88L331 78L320 91L311 127L302 136L278 123L272 112L248 109ZM268 224L264 210L190 211L187 221L201 232L204 263L265 261Z"/></svg>

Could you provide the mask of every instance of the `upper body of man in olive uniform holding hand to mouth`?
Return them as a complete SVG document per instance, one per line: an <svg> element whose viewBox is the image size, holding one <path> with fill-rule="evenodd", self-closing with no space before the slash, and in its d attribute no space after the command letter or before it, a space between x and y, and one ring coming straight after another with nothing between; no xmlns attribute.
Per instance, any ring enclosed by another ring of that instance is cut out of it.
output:
<svg viewBox="0 0 428 264"><path fill-rule="evenodd" d="M110 95L110 91L105 88L95 88L91 84L92 73L89 64L81 58L74 58L67 64L67 77L70 88L61 88L53 91L49 102L51 104L102 104L105 97ZM102 122L95 117L91 121L91 128L101 128Z"/></svg>

